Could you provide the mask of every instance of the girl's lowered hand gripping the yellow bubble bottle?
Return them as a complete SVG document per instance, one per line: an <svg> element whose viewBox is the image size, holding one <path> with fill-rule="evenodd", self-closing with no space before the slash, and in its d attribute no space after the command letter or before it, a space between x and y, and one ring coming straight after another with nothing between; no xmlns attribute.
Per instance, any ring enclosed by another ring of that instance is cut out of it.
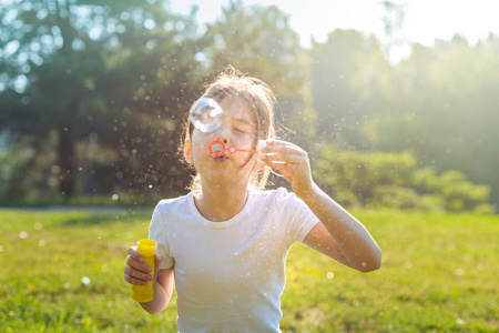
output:
<svg viewBox="0 0 499 333"><path fill-rule="evenodd" d="M156 270L154 278L151 275L151 266L144 263L144 258L139 254L136 246L129 249L129 256L126 258L126 265L124 269L124 280L130 284L145 285L147 281L153 281L157 278L160 270L157 269L161 263L161 259L156 255L154 258L154 264Z"/></svg>

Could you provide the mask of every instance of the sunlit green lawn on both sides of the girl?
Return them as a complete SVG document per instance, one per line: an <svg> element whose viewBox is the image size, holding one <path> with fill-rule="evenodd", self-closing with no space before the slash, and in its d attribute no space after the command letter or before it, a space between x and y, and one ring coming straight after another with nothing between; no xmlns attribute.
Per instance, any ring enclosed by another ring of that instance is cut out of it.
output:
<svg viewBox="0 0 499 333"><path fill-rule="evenodd" d="M152 209L0 210L0 327L6 332L176 332L131 299L126 249ZM363 274L296 244L283 332L499 330L499 216L354 212L384 252Z"/></svg>

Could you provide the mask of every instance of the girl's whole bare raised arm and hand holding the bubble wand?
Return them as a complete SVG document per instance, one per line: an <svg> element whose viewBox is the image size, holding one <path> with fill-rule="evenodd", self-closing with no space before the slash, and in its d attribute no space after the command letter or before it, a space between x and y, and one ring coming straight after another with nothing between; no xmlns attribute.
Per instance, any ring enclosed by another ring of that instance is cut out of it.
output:
<svg viewBox="0 0 499 333"><path fill-rule="evenodd" d="M313 181L307 153L299 147L269 140L264 161L291 183L293 191L320 220L304 243L355 270L370 272L381 265L381 251L367 229Z"/></svg>

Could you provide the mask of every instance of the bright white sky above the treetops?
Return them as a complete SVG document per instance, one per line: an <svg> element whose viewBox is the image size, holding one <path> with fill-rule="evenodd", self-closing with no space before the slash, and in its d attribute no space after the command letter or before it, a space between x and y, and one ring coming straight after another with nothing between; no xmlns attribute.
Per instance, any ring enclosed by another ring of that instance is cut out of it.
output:
<svg viewBox="0 0 499 333"><path fill-rule="evenodd" d="M289 26L301 37L302 46L310 46L310 37L324 42L336 29L354 29L376 34L384 40L384 9L380 0L244 0L244 3L277 6L289 17ZM489 32L499 36L498 0L393 0L406 3L404 37L408 43L432 46L436 39L450 40L459 33L475 44L486 39ZM193 4L198 6L200 23L212 22L222 16L222 7L228 0L171 0L171 8L187 13ZM400 50L401 53L410 52ZM407 56L407 54L406 54ZM405 54L398 54L404 58Z"/></svg>

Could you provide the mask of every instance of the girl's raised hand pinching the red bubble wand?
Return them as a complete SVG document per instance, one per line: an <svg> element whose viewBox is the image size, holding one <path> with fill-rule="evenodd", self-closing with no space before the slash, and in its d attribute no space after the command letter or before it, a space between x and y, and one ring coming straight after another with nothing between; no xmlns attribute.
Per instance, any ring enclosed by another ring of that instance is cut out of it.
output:
<svg viewBox="0 0 499 333"><path fill-rule="evenodd" d="M265 164L281 171L296 195L303 196L313 190L310 163L305 150L287 141L267 140L262 154Z"/></svg>

